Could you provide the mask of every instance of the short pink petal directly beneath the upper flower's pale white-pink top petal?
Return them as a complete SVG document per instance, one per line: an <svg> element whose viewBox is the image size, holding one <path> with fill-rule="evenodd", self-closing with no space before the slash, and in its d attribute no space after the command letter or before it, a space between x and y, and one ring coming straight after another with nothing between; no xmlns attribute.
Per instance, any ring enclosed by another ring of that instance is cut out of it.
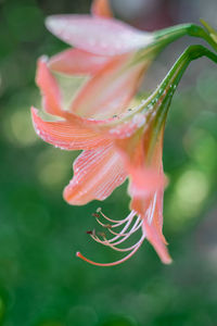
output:
<svg viewBox="0 0 217 326"><path fill-rule="evenodd" d="M104 55L88 53L79 49L65 50L49 60L49 67L68 75L93 75L110 59Z"/></svg>

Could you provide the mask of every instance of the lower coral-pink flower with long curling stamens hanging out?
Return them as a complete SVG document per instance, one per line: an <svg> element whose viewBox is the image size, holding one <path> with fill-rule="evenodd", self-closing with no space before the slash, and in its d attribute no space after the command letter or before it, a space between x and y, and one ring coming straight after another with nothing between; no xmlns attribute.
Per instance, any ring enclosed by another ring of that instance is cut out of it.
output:
<svg viewBox="0 0 217 326"><path fill-rule="evenodd" d="M161 134L161 136L153 140L154 124L158 117L156 113L167 92L165 91L157 101L158 93L154 95L135 110L127 111L119 116L93 120L62 109L59 86L44 60L39 61L37 80L42 90L47 112L62 118L53 122L43 121L38 115L38 111L33 108L33 122L37 134L44 141L62 149L84 150L74 163L74 177L64 190L65 200L78 205L86 204L93 199L104 200L129 176L129 195L132 197L131 213L127 218L108 228L114 233L113 227L125 223L123 230L115 235L111 240L112 243L107 239L102 241L94 235L92 237L116 249L117 243L123 242L140 227L142 237L138 243L120 250L130 250L129 255L124 260L131 256L146 238L154 246L162 261L169 263L170 258L162 235L162 204L165 186L162 168L163 131L158 131L157 135ZM162 127L161 130L163 130ZM153 148L150 147L152 142ZM136 216L138 217L133 223ZM112 222L111 218L108 221ZM131 230L128 230L130 225Z"/></svg>

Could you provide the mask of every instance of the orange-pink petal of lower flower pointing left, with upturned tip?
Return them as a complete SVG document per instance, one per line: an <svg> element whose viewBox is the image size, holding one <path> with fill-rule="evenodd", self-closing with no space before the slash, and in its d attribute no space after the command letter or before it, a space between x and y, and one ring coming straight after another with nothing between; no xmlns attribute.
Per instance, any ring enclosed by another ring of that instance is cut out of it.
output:
<svg viewBox="0 0 217 326"><path fill-rule="evenodd" d="M44 141L65 150L92 149L110 142L97 131L79 124L79 117L76 116L75 120L47 122L33 108L31 118L36 133Z"/></svg>

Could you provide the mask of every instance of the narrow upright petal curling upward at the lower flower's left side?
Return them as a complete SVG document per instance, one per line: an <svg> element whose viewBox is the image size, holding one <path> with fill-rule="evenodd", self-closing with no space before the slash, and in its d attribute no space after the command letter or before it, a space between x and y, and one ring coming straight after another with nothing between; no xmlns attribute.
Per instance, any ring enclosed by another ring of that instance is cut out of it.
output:
<svg viewBox="0 0 217 326"><path fill-rule="evenodd" d="M38 60L36 83L42 92L44 110L50 114L62 116L61 92L55 78L48 70L47 64L48 59L46 57Z"/></svg>

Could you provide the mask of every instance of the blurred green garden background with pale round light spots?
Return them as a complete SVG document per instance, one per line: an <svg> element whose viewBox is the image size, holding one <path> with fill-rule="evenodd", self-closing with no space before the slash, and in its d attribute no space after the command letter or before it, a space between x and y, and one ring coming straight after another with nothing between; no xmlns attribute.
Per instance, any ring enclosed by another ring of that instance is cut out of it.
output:
<svg viewBox="0 0 217 326"><path fill-rule="evenodd" d="M190 3L189 3L190 2ZM203 17L217 27L216 1L116 0L115 13L153 30ZM132 5L133 4L133 5ZM215 326L217 325L217 73L193 63L174 98L165 134L164 233L174 258L163 265L144 242L127 263L88 265L119 258L91 241L91 213L127 214L127 185L103 203L69 206L62 189L78 153L54 149L31 126L40 108L36 60L67 46L50 35L53 13L87 13L90 1L0 1L0 324L4 326ZM169 46L150 70L151 90L192 40ZM199 40L197 40L199 42Z"/></svg>

